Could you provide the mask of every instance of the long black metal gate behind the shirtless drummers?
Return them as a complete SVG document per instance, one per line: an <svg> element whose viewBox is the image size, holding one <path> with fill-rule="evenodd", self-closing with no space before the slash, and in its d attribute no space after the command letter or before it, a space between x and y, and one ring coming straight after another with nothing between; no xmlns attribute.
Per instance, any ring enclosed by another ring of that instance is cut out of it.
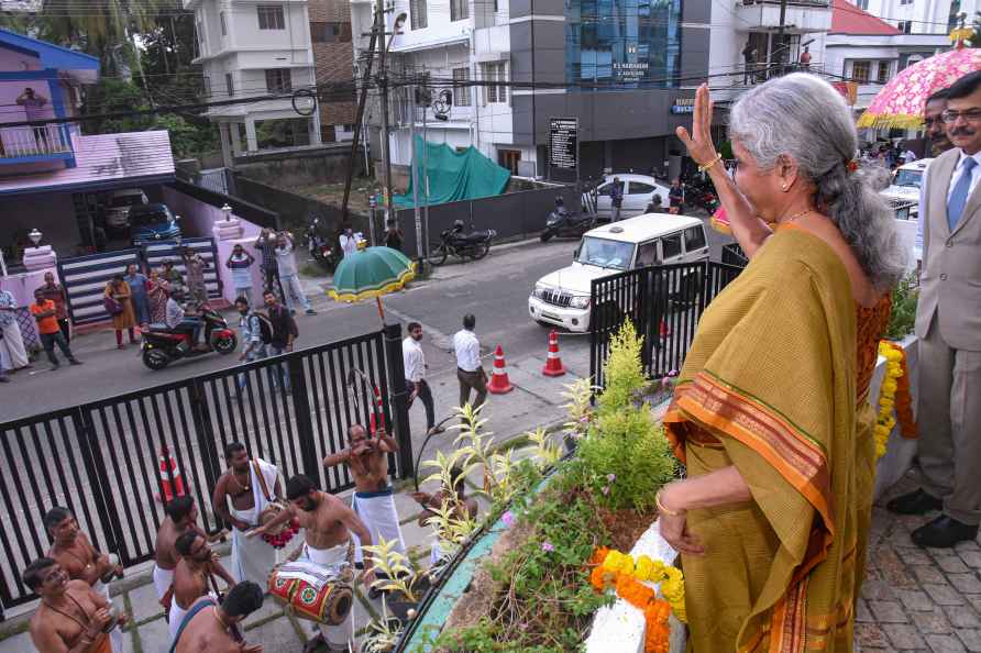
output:
<svg viewBox="0 0 981 653"><path fill-rule="evenodd" d="M21 571L51 543L41 517L65 506L99 551L124 566L154 555L167 500L184 488L205 528L220 524L211 489L227 467L224 447L241 442L284 478L306 474L331 492L353 486L346 468L324 469L348 428L367 425L372 398L346 385L356 367L387 401L385 422L399 442L389 465L412 475L401 326L338 341L119 397L0 423L0 605L36 598ZM169 466L173 456L177 471ZM164 494L163 497L161 495ZM0 612L2 618L2 612Z"/></svg>

